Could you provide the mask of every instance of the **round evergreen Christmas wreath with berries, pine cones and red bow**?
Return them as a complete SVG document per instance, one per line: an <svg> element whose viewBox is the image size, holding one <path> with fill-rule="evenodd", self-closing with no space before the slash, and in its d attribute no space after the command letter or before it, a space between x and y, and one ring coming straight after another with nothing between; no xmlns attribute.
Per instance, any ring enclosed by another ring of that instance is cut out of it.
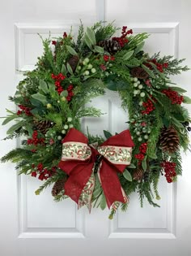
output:
<svg viewBox="0 0 191 256"><path fill-rule="evenodd" d="M15 121L4 140L21 137L21 145L1 161L43 180L37 195L53 184L57 202L71 197L89 210L108 205L110 218L119 206L127 209L135 191L141 205L146 197L158 206L159 177L171 183L181 175L180 149L189 149L191 130L182 106L191 100L169 78L189 69L181 66L184 59L150 57L142 50L147 33L132 35L124 26L114 37L118 29L98 22L84 32L80 24L76 40L71 32L42 38L44 54L33 71L23 72L9 98L18 109L6 110L2 123ZM88 130L84 135L80 119L102 115L87 103L106 89L121 97L129 130L111 134L103 128L103 136Z"/></svg>

